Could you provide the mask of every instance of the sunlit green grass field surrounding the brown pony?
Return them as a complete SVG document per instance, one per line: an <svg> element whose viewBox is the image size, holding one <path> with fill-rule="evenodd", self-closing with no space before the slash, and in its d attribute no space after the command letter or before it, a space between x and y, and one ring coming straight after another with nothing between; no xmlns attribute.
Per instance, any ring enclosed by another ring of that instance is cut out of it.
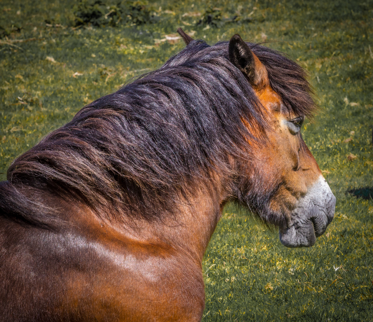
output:
<svg viewBox="0 0 373 322"><path fill-rule="evenodd" d="M302 131L337 198L335 219L314 247L288 249L276 231L226 207L203 263L203 321L372 321L373 203L345 191L373 186L373 1L201 1L194 7L157 1L151 2L162 7L157 24L74 30L75 3L1 1L0 26L9 40L36 40L16 47L1 39L0 179L16 156L85 103L181 50L181 42L157 44L178 26L211 44L235 33L269 41L266 46L291 55L310 74L320 112ZM182 16L204 13L210 4L222 8L223 18L242 19L206 28L196 25L200 17ZM82 75L73 77L76 72ZM357 158L349 161L350 153Z"/></svg>

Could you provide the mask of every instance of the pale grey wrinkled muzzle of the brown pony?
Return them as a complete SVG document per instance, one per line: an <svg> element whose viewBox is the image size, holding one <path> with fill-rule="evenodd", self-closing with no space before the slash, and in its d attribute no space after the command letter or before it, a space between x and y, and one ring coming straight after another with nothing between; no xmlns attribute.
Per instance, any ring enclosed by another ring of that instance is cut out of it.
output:
<svg viewBox="0 0 373 322"><path fill-rule="evenodd" d="M313 246L316 237L321 236L333 220L335 201L329 185L320 175L305 196L297 201L287 226L280 227L281 243L286 247Z"/></svg>

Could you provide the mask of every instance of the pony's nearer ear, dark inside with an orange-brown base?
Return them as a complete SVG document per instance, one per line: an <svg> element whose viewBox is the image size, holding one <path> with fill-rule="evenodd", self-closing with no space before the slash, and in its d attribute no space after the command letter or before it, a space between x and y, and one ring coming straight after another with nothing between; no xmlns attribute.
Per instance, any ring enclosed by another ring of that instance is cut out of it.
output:
<svg viewBox="0 0 373 322"><path fill-rule="evenodd" d="M244 75L251 85L266 85L269 83L267 69L260 62L241 36L235 34L229 41L229 60Z"/></svg>

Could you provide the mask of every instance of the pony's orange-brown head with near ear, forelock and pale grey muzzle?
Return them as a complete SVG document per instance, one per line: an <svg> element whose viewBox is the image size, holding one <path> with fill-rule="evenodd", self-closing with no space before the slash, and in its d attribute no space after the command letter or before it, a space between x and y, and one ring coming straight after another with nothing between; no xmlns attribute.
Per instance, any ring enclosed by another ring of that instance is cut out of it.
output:
<svg viewBox="0 0 373 322"><path fill-rule="evenodd" d="M312 110L304 108L311 90L296 63L283 57L282 71L267 69L254 52L255 46L250 49L237 34L229 41L229 60L253 87L266 121L264 144L251 143L253 158L241 165L240 199L265 222L279 226L283 245L312 246L332 221L336 199L300 132ZM264 58L270 66L269 56ZM282 75L275 84L276 72ZM292 95L286 95L291 87Z"/></svg>

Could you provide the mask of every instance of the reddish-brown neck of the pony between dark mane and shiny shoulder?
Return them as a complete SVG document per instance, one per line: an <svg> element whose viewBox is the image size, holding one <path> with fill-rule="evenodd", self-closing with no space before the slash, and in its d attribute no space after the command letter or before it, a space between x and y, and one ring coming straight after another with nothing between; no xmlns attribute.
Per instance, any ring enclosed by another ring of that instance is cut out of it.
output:
<svg viewBox="0 0 373 322"><path fill-rule="evenodd" d="M116 240L118 247L144 248L162 247L172 253L184 253L198 266L202 266L207 244L220 219L227 194L198 193L189 200L188 205L179 207L175 216L162 220L146 221L127 217L124 220L99 218L92 210L83 205L75 205L68 221L76 234L87 240L105 244ZM71 206L69 206L71 208Z"/></svg>

